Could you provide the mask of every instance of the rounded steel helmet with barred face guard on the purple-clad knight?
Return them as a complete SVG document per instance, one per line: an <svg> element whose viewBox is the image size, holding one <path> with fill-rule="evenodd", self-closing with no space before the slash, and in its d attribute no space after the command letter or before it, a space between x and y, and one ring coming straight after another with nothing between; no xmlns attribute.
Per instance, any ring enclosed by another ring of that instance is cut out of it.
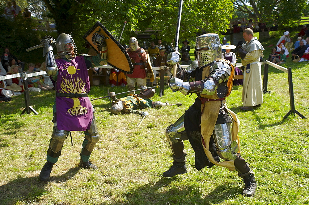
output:
<svg viewBox="0 0 309 205"><path fill-rule="evenodd" d="M61 58L72 60L77 55L76 45L70 34L60 34L56 40L56 48Z"/></svg>

